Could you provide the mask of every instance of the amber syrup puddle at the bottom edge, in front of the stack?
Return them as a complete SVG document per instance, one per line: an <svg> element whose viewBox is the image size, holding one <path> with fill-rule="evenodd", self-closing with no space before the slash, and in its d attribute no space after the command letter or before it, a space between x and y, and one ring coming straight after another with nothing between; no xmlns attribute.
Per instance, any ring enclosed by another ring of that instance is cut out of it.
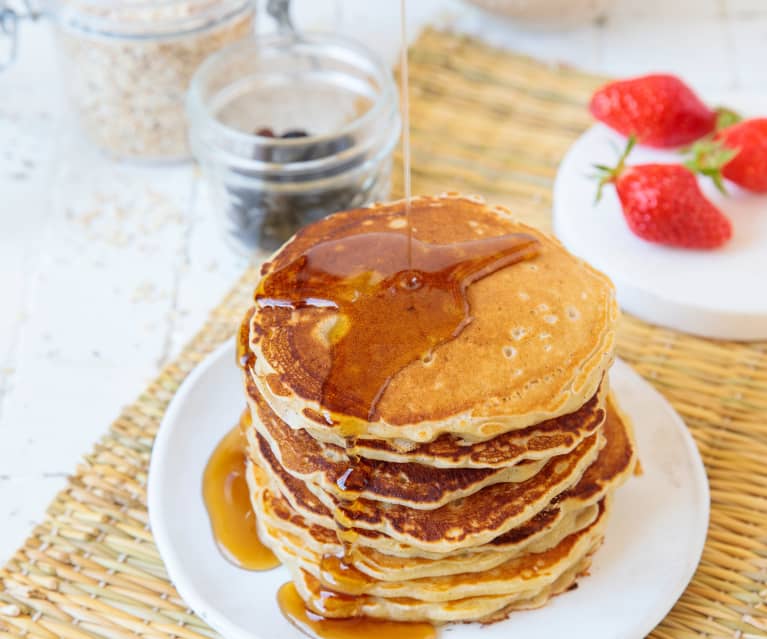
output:
<svg viewBox="0 0 767 639"><path fill-rule="evenodd" d="M434 639L437 636L436 629L429 623L384 621L369 617L323 617L306 608L293 582L280 588L277 601L288 621L313 639Z"/></svg>

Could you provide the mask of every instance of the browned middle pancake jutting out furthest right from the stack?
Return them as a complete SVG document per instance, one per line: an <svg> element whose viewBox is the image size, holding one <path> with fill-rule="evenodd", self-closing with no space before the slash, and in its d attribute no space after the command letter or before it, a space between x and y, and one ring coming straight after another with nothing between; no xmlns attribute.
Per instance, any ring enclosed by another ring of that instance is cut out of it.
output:
<svg viewBox="0 0 767 639"><path fill-rule="evenodd" d="M604 438L601 448L594 442L592 452L576 449L562 459L552 460L550 473L520 485L491 486L468 499L426 512L385 505L376 509L376 502L369 500L358 500L351 506L332 498L322 500L304 482L281 468L265 442L259 450L251 452L255 452L254 461L263 468L272 489L310 524L333 531L340 525L347 529L347 536L354 539L355 545L385 554L430 558L483 544L495 545L503 551L507 545L513 546L520 538L535 533L546 525L546 520L556 524L562 517L603 499L631 475L636 464L631 424L615 407L612 397L608 399L605 425L597 435ZM562 465L569 468L554 468ZM572 474L573 469L580 470ZM568 470L571 471L569 482ZM552 490L552 486L557 488ZM392 534L391 527L374 527L370 520L350 522L346 513L358 509L369 513L374 522L388 523L389 519L395 519L403 521L407 528ZM449 526L448 522L453 525ZM448 531L448 534L443 532L444 537L440 537L437 534L440 531Z"/></svg>

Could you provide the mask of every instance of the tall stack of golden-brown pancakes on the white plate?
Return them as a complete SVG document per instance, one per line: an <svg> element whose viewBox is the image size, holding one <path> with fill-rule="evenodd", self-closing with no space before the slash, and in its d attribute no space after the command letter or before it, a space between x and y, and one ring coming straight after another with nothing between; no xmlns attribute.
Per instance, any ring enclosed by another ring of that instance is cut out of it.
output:
<svg viewBox="0 0 767 639"><path fill-rule="evenodd" d="M402 229L404 215L402 202L333 215L262 275L318 242ZM538 254L472 283L471 321L393 375L370 418L322 405L338 312L256 304L239 338L253 508L318 614L493 621L585 574L634 469L608 387L614 291L503 209L443 196L413 200L410 216L423 241L525 232Z"/></svg>

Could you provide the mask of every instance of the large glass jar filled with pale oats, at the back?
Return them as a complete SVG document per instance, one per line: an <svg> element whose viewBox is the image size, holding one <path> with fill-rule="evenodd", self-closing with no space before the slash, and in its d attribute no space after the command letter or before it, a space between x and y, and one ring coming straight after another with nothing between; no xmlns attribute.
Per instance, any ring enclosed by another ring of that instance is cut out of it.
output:
<svg viewBox="0 0 767 639"><path fill-rule="evenodd" d="M189 157L184 100L198 65L251 33L254 0L51 0L65 85L107 154Z"/></svg>

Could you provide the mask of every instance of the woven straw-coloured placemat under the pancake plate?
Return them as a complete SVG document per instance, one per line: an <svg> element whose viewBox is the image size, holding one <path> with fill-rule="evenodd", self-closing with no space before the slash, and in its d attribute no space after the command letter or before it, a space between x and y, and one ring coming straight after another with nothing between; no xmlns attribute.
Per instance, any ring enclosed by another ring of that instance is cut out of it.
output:
<svg viewBox="0 0 767 639"><path fill-rule="evenodd" d="M481 193L547 227L557 163L589 125L584 105L600 79L434 30L410 65L414 191ZM246 272L123 411L0 571L0 637L217 636L168 582L148 527L147 467L174 391L233 334L256 278ZM767 343L708 341L626 317L619 354L684 417L711 482L700 568L652 636L767 637Z"/></svg>

